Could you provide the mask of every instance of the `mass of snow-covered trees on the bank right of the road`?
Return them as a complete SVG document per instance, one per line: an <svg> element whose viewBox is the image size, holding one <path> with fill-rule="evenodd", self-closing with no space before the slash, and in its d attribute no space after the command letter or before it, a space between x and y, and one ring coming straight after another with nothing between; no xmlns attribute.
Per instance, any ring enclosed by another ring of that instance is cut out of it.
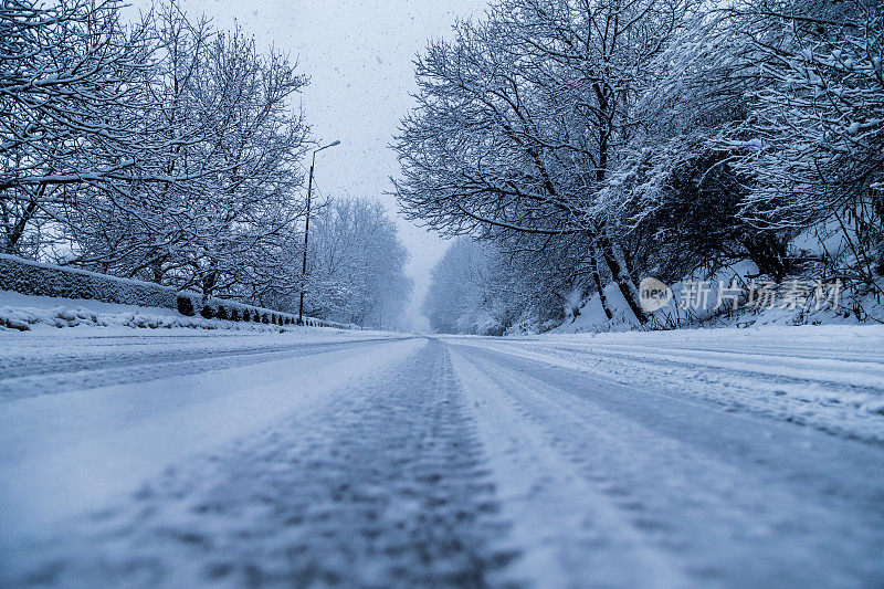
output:
<svg viewBox="0 0 884 589"><path fill-rule="evenodd" d="M418 60L397 194L609 318L740 260L880 296L883 55L878 0L499 0Z"/></svg>

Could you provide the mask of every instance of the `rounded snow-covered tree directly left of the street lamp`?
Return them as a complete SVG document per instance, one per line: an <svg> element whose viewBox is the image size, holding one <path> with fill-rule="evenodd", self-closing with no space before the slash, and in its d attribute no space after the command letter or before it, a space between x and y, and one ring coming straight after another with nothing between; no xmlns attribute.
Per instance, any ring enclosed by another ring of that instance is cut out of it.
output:
<svg viewBox="0 0 884 589"><path fill-rule="evenodd" d="M82 191L67 223L76 261L207 295L253 290L272 274L297 284L288 256L270 252L291 251L303 215L307 127L291 98L306 80L241 31L212 31L175 3L150 25L141 128L166 138L166 178Z"/></svg>

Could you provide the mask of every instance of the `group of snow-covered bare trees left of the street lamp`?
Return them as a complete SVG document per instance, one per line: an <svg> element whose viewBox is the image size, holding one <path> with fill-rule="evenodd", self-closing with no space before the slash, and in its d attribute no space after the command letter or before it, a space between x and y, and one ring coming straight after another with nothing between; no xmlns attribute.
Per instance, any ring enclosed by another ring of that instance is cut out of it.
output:
<svg viewBox="0 0 884 589"><path fill-rule="evenodd" d="M173 0L123 7L0 6L0 250L260 305L322 287L301 275L307 77Z"/></svg>

